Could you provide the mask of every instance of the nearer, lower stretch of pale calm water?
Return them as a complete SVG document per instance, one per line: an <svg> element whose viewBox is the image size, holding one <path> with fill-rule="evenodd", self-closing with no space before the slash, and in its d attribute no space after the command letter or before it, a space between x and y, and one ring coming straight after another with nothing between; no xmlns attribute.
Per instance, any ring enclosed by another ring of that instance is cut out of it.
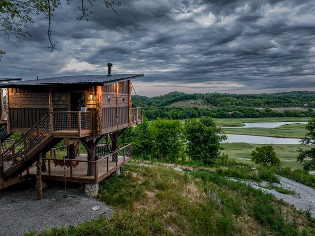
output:
<svg viewBox="0 0 315 236"><path fill-rule="evenodd" d="M252 144L300 144L300 138L265 137L254 135L226 135L225 142L247 142Z"/></svg>

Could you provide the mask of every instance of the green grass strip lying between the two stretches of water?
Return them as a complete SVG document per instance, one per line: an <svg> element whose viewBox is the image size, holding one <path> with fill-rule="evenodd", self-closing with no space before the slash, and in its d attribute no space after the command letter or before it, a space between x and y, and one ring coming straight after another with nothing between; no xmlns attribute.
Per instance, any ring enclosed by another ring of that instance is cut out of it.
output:
<svg viewBox="0 0 315 236"><path fill-rule="evenodd" d="M223 130L226 134L303 138L307 133L305 127L306 124L290 124L277 128L224 128Z"/></svg>

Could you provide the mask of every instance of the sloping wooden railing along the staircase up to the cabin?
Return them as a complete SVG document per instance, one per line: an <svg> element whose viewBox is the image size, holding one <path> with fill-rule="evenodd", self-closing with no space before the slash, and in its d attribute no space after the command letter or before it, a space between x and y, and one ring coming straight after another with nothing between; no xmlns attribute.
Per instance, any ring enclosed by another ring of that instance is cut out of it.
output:
<svg viewBox="0 0 315 236"><path fill-rule="evenodd" d="M36 124L32 126L24 135L16 140L8 149L0 154L0 160L13 165L16 162L27 160L27 153L32 150L45 137L51 134L51 112L47 113ZM4 165L8 166L8 165ZM8 168L5 168L8 169ZM5 170L4 169L4 170Z"/></svg>

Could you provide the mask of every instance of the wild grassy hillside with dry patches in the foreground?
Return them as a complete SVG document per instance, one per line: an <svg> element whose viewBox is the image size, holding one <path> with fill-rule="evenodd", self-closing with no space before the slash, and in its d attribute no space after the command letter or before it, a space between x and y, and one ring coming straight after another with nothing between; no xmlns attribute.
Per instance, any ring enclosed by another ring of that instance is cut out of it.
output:
<svg viewBox="0 0 315 236"><path fill-rule="evenodd" d="M230 177L271 180L250 166L233 164L211 172L183 173L166 167L128 164L121 176L100 182L99 200L110 219L51 229L41 236L308 236L310 217L272 195ZM30 233L28 236L34 236Z"/></svg>

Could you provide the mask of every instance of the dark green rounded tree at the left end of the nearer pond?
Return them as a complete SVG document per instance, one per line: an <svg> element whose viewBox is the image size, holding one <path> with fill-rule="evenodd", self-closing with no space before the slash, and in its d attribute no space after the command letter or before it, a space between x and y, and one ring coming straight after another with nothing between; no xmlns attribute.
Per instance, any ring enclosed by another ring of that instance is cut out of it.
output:
<svg viewBox="0 0 315 236"><path fill-rule="evenodd" d="M201 121L187 119L184 126L189 157L204 164L215 162L220 154L220 143L226 139L226 135L220 135L221 129L211 123L210 119L205 117L201 118Z"/></svg>

